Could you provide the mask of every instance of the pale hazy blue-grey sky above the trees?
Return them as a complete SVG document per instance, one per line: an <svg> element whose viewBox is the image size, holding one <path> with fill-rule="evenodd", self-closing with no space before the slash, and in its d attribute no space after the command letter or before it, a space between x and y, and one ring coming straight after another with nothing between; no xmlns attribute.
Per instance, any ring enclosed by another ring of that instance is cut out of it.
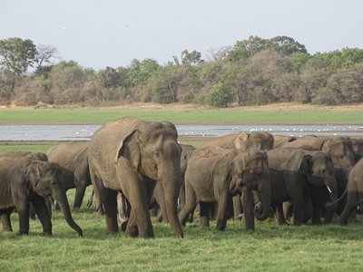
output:
<svg viewBox="0 0 363 272"><path fill-rule="evenodd" d="M292 37L309 53L363 48L362 0L1 0L0 40L50 44L94 70L132 59L202 59L250 35Z"/></svg>

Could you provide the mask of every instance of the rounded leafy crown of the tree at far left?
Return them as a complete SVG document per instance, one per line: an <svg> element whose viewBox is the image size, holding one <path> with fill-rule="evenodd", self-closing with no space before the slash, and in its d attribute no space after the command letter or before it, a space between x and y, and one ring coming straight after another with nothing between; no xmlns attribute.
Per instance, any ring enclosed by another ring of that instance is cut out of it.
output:
<svg viewBox="0 0 363 272"><path fill-rule="evenodd" d="M36 47L32 40L8 38L0 40L1 69L17 75L23 74L33 66Z"/></svg>

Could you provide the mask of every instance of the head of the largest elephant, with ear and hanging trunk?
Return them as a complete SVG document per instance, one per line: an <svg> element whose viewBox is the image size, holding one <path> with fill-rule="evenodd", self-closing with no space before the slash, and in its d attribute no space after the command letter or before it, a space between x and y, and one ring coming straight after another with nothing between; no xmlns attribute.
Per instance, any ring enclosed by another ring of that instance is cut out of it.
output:
<svg viewBox="0 0 363 272"><path fill-rule="evenodd" d="M181 147L177 136L176 128L171 122L146 123L123 137L115 162L120 157L127 158L132 161L137 172L162 184L169 222L175 235L182 237L182 226L177 216L182 185ZM126 195L127 197L129 196Z"/></svg>

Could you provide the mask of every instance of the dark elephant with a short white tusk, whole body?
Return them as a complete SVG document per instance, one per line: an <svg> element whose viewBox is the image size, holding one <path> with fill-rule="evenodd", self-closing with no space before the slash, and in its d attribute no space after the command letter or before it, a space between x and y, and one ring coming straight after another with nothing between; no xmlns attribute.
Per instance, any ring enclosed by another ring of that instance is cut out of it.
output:
<svg viewBox="0 0 363 272"><path fill-rule="evenodd" d="M278 224L285 223L282 203L291 201L294 224L312 218L319 224L321 209L338 199L337 180L331 156L323 151L280 148L267 151L270 167L271 204ZM337 205L330 209L337 209Z"/></svg>

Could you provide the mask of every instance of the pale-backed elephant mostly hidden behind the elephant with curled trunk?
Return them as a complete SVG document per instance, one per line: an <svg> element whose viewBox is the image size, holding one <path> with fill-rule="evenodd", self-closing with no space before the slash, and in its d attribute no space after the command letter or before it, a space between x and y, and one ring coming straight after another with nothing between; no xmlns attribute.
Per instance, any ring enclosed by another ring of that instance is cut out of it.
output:
<svg viewBox="0 0 363 272"><path fill-rule="evenodd" d="M253 131L250 133L242 131L207 141L204 145L219 146L225 149L240 151L270 151L274 146L274 141L274 136L266 131ZM234 196L232 199L234 219L240 220L242 219L243 213L240 194Z"/></svg>

